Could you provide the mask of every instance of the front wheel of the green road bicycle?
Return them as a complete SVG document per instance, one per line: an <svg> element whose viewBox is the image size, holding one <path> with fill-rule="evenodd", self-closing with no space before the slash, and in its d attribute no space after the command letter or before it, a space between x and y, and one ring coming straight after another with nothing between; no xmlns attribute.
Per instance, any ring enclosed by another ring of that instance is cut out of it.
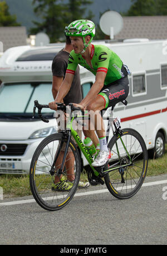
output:
<svg viewBox="0 0 167 256"><path fill-rule="evenodd" d="M70 142L71 151L67 152L63 174L57 176L65 151L60 152L55 166L53 162L61 142L62 134L52 134L43 139L31 162L31 191L38 204L47 210L58 210L65 206L75 194L80 180L80 156L72 141ZM58 177L61 178L61 181ZM68 182L70 177L74 180L73 183ZM54 185L55 182L57 185Z"/></svg>

